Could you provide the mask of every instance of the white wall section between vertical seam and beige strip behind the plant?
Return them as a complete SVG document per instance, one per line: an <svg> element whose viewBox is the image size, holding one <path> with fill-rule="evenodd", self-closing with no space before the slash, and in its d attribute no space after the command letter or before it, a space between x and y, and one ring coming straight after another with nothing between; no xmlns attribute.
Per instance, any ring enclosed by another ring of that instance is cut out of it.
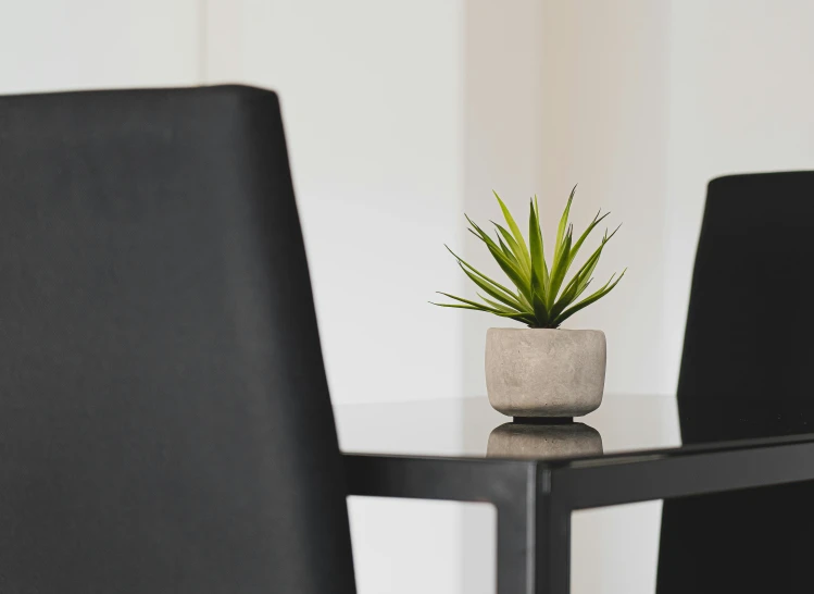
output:
<svg viewBox="0 0 814 594"><path fill-rule="evenodd" d="M427 301L463 284L462 1L210 11L208 82L281 98L334 401L459 396L461 314Z"/></svg>

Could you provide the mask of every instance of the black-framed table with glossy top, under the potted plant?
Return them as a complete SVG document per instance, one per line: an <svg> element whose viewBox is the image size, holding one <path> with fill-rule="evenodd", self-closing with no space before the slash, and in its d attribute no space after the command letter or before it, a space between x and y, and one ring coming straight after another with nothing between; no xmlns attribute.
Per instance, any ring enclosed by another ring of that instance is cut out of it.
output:
<svg viewBox="0 0 814 594"><path fill-rule="evenodd" d="M574 511L814 480L813 434L681 445L668 396L606 395L555 424L513 423L485 397L336 419L351 494L494 506L500 594L569 592Z"/></svg>

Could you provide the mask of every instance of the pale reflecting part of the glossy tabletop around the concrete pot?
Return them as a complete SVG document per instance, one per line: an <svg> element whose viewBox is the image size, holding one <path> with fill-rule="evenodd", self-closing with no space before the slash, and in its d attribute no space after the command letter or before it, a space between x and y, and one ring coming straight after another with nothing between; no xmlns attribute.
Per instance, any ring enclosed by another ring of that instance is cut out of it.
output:
<svg viewBox="0 0 814 594"><path fill-rule="evenodd" d="M514 423L483 397L335 407L346 453L558 459L680 447L673 396L606 395L566 424Z"/></svg>

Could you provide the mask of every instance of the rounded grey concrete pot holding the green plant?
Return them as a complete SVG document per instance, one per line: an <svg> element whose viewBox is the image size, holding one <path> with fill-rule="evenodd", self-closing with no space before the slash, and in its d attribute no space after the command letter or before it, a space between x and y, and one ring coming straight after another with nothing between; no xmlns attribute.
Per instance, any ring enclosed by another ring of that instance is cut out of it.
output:
<svg viewBox="0 0 814 594"><path fill-rule="evenodd" d="M605 335L598 330L490 327L486 388L509 417L581 417L602 404Z"/></svg>

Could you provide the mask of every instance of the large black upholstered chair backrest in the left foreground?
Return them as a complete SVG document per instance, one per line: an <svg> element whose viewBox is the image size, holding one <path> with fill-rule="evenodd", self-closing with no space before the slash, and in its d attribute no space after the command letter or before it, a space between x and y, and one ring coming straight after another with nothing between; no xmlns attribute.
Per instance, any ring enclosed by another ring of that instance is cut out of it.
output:
<svg viewBox="0 0 814 594"><path fill-rule="evenodd" d="M0 98L0 592L354 591L279 106Z"/></svg>

